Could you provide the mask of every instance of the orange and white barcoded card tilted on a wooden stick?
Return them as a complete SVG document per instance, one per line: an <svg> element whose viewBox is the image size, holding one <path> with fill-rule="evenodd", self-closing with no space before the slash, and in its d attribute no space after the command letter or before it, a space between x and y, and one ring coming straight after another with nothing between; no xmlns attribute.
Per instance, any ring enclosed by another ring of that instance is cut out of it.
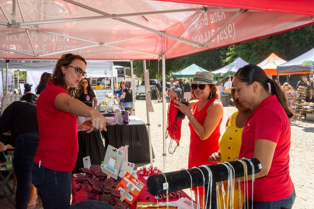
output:
<svg viewBox="0 0 314 209"><path fill-rule="evenodd" d="M132 205L145 185L127 172L116 188L116 190L120 191L120 197L130 184L132 184L133 187L124 200Z"/></svg>

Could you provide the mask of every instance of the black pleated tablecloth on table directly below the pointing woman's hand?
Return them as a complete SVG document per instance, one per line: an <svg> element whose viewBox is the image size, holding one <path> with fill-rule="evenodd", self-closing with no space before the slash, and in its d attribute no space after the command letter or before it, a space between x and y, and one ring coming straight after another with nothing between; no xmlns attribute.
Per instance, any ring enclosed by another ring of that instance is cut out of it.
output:
<svg viewBox="0 0 314 209"><path fill-rule="evenodd" d="M107 131L103 131L106 149L108 144L115 148L129 145L128 161L138 163L149 161L149 139L146 124L141 120L130 121L128 125L106 125ZM153 148L153 159L155 158Z"/></svg>

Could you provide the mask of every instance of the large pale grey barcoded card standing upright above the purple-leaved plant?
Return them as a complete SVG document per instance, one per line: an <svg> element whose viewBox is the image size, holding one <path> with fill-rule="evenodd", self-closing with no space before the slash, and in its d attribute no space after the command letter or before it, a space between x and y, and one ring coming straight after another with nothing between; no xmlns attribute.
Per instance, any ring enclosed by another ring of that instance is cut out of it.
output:
<svg viewBox="0 0 314 209"><path fill-rule="evenodd" d="M123 152L119 149L108 145L106 156L104 159L104 166L102 167L102 172L108 174L111 172L111 177L114 179L118 178L119 168L122 162Z"/></svg>

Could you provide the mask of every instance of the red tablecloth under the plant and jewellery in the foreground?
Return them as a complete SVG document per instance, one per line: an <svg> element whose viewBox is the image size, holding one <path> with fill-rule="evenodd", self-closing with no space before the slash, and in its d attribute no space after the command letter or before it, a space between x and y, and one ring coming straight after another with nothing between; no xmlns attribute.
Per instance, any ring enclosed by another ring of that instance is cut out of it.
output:
<svg viewBox="0 0 314 209"><path fill-rule="evenodd" d="M160 170L158 170L158 173L162 173L162 172ZM145 185L145 187L143 188L141 193L136 198L136 201L137 202L154 202L154 203L157 203L155 196L150 195L148 190L147 190L147 186L146 186L147 180L145 180L143 178L144 175L139 175L139 171L137 172L137 175L138 175L138 180L140 180ZM76 182L73 181L74 179L76 179L76 178L72 177L72 204L75 202L78 202L78 201L86 200L86 198L85 198L86 192L85 191L83 191L83 190L80 190L78 192L74 191L74 188L78 188L78 185L76 184ZM181 190L181 193L182 193L183 197L187 197L188 199L190 199L190 197L184 191ZM180 198L181 198L181 196L180 196ZM175 198L169 196L169 202L177 201L178 199L179 198L177 195ZM163 199L158 200L158 201L159 202L166 202L166 199L163 198ZM136 205L133 204L133 205L129 206L129 209L136 209Z"/></svg>

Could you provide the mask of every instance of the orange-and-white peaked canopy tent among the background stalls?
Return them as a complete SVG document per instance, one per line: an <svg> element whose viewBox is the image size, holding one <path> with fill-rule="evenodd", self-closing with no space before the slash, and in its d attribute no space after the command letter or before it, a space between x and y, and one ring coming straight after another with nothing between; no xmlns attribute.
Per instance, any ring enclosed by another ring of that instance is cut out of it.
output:
<svg viewBox="0 0 314 209"><path fill-rule="evenodd" d="M272 53L267 57L263 62L257 64L260 66L268 76L276 76L277 75L277 66L286 63L286 60L281 59L279 56Z"/></svg>

